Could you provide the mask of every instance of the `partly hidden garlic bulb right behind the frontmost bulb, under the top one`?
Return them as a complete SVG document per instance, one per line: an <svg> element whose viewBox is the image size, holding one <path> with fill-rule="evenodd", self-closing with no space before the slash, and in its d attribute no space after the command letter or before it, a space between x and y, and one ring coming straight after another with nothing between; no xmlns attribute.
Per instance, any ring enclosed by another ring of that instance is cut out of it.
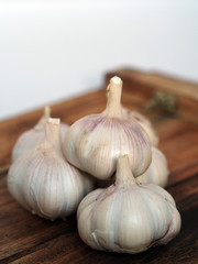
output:
<svg viewBox="0 0 198 264"><path fill-rule="evenodd" d="M151 183L165 187L168 180L168 175L169 170L165 155L156 147L152 147L152 162L150 167L144 174L136 178L136 182L142 184Z"/></svg>

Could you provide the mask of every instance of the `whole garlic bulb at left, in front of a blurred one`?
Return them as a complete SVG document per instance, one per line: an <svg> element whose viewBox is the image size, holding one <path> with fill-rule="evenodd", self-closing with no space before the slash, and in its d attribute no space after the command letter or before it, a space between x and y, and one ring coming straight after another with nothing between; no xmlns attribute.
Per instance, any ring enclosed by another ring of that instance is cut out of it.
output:
<svg viewBox="0 0 198 264"><path fill-rule="evenodd" d="M59 130L59 119L48 118L43 143L16 158L8 174L8 188L15 200L51 220L75 212L94 187L63 156Z"/></svg>

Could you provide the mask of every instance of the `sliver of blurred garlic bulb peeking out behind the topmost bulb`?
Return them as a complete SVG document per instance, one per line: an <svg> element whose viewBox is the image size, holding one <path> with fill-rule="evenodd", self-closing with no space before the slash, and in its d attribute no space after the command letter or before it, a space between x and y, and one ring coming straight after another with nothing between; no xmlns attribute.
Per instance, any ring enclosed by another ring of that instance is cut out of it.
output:
<svg viewBox="0 0 198 264"><path fill-rule="evenodd" d="M152 123L150 122L150 120L136 111L130 111L127 108L123 108L123 111L125 112L125 116L128 119L135 119L140 123L140 125L145 130L145 132L150 136L152 145L157 146L158 145L158 136L156 135L156 132L155 132Z"/></svg>

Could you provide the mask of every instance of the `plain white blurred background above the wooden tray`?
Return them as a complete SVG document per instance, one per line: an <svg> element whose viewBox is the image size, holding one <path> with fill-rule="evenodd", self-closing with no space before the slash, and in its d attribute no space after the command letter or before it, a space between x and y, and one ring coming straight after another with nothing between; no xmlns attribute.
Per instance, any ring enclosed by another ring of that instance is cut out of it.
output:
<svg viewBox="0 0 198 264"><path fill-rule="evenodd" d="M198 1L0 0L1 120L122 66L198 81Z"/></svg>

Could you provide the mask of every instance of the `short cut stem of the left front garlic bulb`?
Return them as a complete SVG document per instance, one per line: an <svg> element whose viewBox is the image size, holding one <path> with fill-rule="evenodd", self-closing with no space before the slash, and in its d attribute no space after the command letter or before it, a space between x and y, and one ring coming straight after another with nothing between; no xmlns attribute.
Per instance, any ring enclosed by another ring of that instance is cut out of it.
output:
<svg viewBox="0 0 198 264"><path fill-rule="evenodd" d="M45 142L51 143L57 151L62 150L61 120L48 118L45 125Z"/></svg>

